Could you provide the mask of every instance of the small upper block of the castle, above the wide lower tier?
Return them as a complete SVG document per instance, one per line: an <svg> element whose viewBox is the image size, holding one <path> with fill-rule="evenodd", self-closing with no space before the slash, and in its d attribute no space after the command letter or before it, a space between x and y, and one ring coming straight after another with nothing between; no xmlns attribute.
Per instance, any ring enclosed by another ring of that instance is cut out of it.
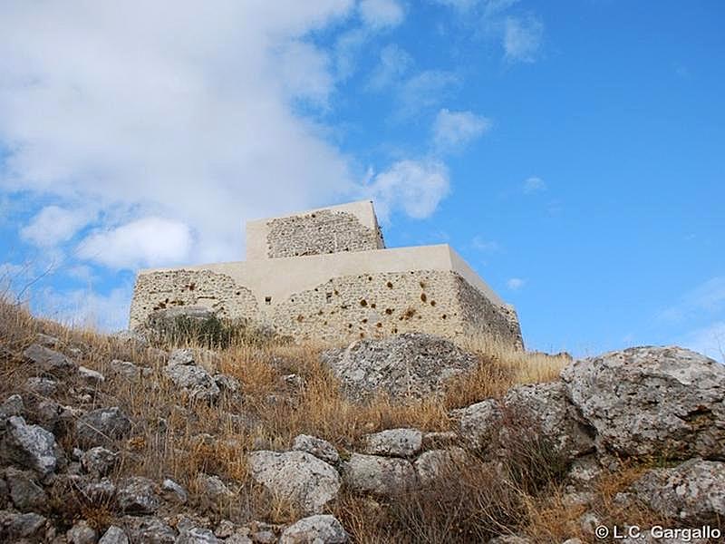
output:
<svg viewBox="0 0 725 544"><path fill-rule="evenodd" d="M247 260L382 249L372 202L361 201L247 223Z"/></svg>

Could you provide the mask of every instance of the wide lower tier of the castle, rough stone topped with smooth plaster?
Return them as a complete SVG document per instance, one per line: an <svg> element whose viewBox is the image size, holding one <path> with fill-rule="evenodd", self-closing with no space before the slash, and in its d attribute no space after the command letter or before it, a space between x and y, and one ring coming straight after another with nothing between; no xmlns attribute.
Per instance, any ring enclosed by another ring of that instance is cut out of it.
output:
<svg viewBox="0 0 725 544"><path fill-rule="evenodd" d="M329 344L420 331L450 338L483 333L521 346L513 310L495 295L489 297L479 278L474 287L460 270L451 269L451 255L447 246L433 246L368 252L367 265L362 254L284 259L287 266L276 267L276 274L251 263L148 271L137 281L131 328L154 309L187 305L251 318L297 340ZM430 267L385 268L413 263ZM362 274L347 273L365 267ZM326 279L320 282L320 277Z"/></svg>

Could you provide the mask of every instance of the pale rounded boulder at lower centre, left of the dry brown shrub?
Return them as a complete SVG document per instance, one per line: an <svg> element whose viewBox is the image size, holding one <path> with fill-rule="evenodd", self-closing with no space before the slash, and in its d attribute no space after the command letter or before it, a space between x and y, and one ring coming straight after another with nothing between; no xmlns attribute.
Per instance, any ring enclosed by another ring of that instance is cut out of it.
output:
<svg viewBox="0 0 725 544"><path fill-rule="evenodd" d="M252 477L269 491L294 501L304 513L319 513L340 490L340 476L307 452L251 452Z"/></svg>

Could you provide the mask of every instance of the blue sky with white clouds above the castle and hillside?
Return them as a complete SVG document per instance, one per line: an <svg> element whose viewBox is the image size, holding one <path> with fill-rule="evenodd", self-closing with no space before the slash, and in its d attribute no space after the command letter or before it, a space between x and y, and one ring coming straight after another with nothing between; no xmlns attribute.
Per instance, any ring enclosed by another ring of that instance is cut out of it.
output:
<svg viewBox="0 0 725 544"><path fill-rule="evenodd" d="M0 5L0 278L126 325L139 267L370 198L446 242L531 349L725 350L725 6Z"/></svg>

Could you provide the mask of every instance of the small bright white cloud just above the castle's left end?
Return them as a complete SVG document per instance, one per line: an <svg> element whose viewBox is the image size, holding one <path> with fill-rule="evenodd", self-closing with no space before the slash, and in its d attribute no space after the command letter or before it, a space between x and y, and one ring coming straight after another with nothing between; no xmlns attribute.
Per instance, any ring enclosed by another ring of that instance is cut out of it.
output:
<svg viewBox="0 0 725 544"><path fill-rule="evenodd" d="M155 267L189 258L192 241L187 225L151 217L92 234L78 254L108 267Z"/></svg>

